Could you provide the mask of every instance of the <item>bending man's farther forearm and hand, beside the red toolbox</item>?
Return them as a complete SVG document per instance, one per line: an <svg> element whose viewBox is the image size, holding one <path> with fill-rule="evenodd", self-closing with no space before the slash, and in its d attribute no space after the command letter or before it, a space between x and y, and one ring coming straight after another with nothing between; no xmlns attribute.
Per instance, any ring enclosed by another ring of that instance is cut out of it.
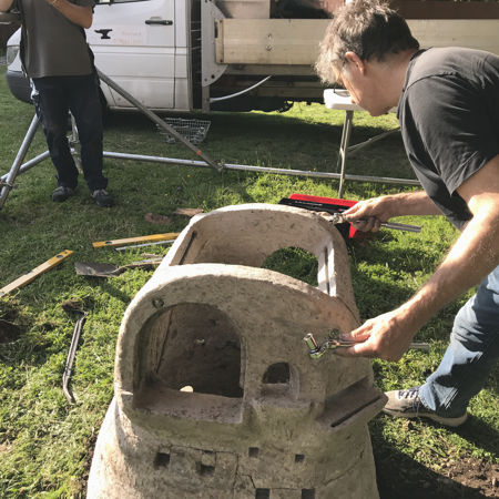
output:
<svg viewBox="0 0 499 499"><path fill-rule="evenodd" d="M343 213L355 228L376 232L381 222L403 215L441 215L425 191L400 193L360 201ZM356 222L363 220L363 222Z"/></svg>

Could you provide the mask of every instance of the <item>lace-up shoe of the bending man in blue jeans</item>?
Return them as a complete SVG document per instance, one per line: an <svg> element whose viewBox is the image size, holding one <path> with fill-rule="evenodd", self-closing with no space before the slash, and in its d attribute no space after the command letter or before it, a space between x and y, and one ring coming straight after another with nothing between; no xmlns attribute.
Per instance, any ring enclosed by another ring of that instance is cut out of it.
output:
<svg viewBox="0 0 499 499"><path fill-rule="evenodd" d="M419 398L419 387L407 390L386 391L388 401L383 411L398 418L428 418L446 426L462 425L468 418L468 413L456 418L438 416L435 410L426 408Z"/></svg>

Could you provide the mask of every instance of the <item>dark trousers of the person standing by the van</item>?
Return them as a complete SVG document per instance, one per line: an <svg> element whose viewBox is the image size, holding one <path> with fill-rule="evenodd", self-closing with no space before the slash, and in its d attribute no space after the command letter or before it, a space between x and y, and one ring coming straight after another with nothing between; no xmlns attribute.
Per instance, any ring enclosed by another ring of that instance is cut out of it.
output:
<svg viewBox="0 0 499 499"><path fill-rule="evenodd" d="M95 74L33 78L32 100L43 128L58 184L75 189L78 169L68 143L69 111L81 144L81 164L90 191L105 189L102 175L102 110Z"/></svg>

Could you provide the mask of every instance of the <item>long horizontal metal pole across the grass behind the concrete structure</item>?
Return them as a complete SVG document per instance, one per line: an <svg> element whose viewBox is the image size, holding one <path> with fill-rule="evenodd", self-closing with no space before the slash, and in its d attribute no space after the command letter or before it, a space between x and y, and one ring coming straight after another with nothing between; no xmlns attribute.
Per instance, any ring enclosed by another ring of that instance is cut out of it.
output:
<svg viewBox="0 0 499 499"><path fill-rule="evenodd" d="M208 166L204 161L195 160L182 160L176 157L162 157L162 156L146 156L142 154L126 154L104 151L104 157L112 157L114 160L134 160L144 161L150 163L166 163L166 164L179 164L183 166ZM224 164L225 170L237 170L244 172L256 172L256 173L273 173L276 175L303 175L310 176L315 179L340 179L340 173L329 173L329 172L310 172L305 170L286 170L286 169L273 169L267 166L251 166L246 164ZM345 180L357 181L357 182L378 182L383 184L400 184L400 185L416 185L421 184L417 180L410 179L393 179L389 176L365 176L365 175L348 175L345 174Z"/></svg>

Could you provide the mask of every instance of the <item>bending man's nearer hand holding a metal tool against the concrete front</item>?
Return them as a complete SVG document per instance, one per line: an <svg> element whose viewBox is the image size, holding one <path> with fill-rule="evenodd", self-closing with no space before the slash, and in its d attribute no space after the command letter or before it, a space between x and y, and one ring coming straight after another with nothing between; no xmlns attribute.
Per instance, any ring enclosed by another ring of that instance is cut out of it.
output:
<svg viewBox="0 0 499 499"><path fill-rule="evenodd" d="M399 360L421 326L419 320L411 320L404 308L397 308L365 322L349 335L342 335L342 339L358 344L348 348L337 348L335 354L345 357Z"/></svg>

